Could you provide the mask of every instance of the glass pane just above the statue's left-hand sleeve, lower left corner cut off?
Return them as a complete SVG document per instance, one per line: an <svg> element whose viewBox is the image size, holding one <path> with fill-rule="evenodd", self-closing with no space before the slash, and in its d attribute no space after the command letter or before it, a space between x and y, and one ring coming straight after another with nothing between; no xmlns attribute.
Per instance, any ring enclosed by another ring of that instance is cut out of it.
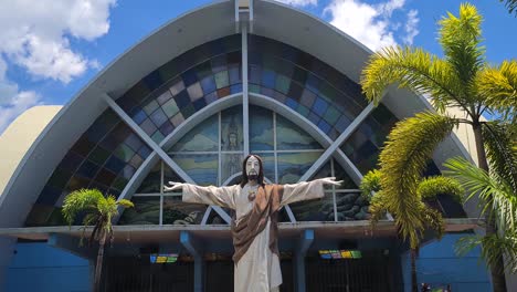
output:
<svg viewBox="0 0 517 292"><path fill-rule="evenodd" d="M218 155L173 155L172 160L175 160L197 185L218 185Z"/></svg>

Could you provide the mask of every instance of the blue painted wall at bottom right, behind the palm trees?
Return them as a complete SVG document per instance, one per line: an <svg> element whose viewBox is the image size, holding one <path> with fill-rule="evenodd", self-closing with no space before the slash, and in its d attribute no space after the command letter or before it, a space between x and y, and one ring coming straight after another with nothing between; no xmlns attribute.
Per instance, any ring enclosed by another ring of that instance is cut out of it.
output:
<svg viewBox="0 0 517 292"><path fill-rule="evenodd" d="M416 279L429 283L431 288L451 284L454 292L492 291L488 269L479 260L481 249L476 248L465 257L457 257L454 244L465 234L446 234L441 241L434 241L420 250L416 260ZM411 291L411 262L409 252L402 254L404 290Z"/></svg>

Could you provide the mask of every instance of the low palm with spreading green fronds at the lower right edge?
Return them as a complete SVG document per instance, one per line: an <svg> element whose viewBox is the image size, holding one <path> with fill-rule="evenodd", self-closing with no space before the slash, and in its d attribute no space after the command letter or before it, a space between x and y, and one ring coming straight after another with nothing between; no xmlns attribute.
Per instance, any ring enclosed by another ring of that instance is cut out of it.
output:
<svg viewBox="0 0 517 292"><path fill-rule="evenodd" d="M514 125L515 126L515 125ZM484 129L490 173L476 167L463 158L453 158L445 163L453 176L466 187L467 200L478 194L484 201L492 201L498 232L490 237L471 236L462 238L457 249L466 253L479 244L488 247L482 250L488 262L497 259L494 254L504 254L506 267L517 272L517 142L515 127L489 123ZM497 252L493 252L496 250Z"/></svg>

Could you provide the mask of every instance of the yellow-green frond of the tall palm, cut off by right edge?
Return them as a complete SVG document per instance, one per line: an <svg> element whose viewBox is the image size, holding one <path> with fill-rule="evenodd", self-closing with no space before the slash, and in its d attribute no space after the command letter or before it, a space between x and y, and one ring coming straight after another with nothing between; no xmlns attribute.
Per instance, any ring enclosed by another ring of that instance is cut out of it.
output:
<svg viewBox="0 0 517 292"><path fill-rule="evenodd" d="M498 67L486 66L476 76L479 95L486 104L503 114L503 117L516 122L517 111L517 61L503 61Z"/></svg>

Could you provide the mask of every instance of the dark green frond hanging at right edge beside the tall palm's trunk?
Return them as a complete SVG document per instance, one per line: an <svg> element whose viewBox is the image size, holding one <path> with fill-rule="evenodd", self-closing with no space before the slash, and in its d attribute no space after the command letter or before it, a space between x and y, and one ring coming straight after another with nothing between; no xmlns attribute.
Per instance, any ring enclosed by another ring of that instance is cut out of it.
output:
<svg viewBox="0 0 517 292"><path fill-rule="evenodd" d="M486 157L490 175L507 181L517 192L517 137L513 136L511 125L497 121L483 126Z"/></svg>

